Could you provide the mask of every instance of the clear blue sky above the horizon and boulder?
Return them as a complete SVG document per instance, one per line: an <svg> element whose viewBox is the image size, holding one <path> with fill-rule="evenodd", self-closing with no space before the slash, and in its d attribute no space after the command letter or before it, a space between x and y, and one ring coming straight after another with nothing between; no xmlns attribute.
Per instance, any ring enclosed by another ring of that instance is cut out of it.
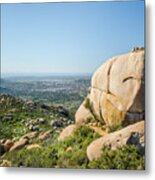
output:
<svg viewBox="0 0 155 180"><path fill-rule="evenodd" d="M2 73L93 73L144 46L144 2L1 5Z"/></svg>

